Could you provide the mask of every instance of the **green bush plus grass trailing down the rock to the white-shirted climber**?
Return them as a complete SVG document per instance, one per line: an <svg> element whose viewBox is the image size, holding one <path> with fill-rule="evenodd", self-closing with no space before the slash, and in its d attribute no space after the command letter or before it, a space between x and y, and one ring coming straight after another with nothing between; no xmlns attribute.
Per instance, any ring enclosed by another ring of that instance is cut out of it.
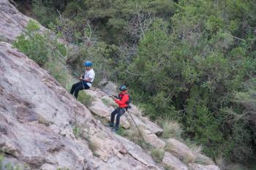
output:
<svg viewBox="0 0 256 170"><path fill-rule="evenodd" d="M18 36L13 46L48 70L64 88L68 88L72 77L64 64L66 47L53 38L50 32L40 34L39 25L33 20L29 21L24 31L26 34Z"/></svg>

